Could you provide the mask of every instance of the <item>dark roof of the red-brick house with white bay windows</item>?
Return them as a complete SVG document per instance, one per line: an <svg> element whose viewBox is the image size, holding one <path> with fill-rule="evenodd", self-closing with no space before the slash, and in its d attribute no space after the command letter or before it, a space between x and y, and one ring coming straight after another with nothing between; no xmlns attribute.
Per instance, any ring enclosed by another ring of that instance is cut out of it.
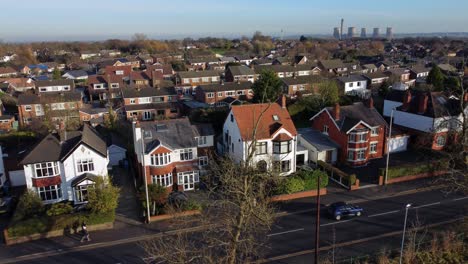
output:
<svg viewBox="0 0 468 264"><path fill-rule="evenodd" d="M327 107L327 110L334 116L334 107ZM372 127L387 126L387 122L375 108L371 109L362 102L340 106L340 120L335 120L342 132L348 132L360 121Z"/></svg>

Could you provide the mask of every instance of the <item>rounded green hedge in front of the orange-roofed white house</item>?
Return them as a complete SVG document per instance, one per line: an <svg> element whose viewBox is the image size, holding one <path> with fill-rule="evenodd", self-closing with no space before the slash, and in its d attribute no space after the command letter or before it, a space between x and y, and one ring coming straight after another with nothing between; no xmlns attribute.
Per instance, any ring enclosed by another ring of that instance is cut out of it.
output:
<svg viewBox="0 0 468 264"><path fill-rule="evenodd" d="M327 187L328 176L326 173L319 170L300 171L293 176L282 179L276 186L275 195L316 190L318 177L320 177L320 188Z"/></svg>

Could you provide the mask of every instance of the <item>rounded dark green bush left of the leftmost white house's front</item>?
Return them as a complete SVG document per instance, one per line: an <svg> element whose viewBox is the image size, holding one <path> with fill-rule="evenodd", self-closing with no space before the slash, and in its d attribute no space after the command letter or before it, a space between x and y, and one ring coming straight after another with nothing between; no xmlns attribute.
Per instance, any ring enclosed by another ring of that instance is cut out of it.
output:
<svg viewBox="0 0 468 264"><path fill-rule="evenodd" d="M19 221L33 216L41 215L44 205L36 192L27 190L19 199L13 221Z"/></svg>

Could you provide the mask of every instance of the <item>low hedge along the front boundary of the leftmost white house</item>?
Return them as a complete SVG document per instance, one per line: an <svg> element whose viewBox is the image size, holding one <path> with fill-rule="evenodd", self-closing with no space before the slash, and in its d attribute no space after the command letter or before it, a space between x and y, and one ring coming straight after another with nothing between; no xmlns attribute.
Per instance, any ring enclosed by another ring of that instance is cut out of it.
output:
<svg viewBox="0 0 468 264"><path fill-rule="evenodd" d="M114 222L114 219L115 214L113 212L99 214L83 212L59 216L35 216L12 222L8 227L8 235L10 237L28 236L54 230L79 228L83 222L87 225L97 225Z"/></svg>

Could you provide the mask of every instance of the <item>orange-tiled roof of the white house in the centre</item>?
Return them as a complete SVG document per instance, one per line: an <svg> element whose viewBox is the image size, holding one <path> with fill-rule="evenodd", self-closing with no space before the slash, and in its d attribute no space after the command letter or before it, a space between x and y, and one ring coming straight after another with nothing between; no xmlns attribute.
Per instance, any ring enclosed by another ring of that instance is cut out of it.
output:
<svg viewBox="0 0 468 264"><path fill-rule="evenodd" d="M243 140L252 140L254 125L260 116L256 131L257 140L270 139L280 128L286 129L293 136L297 135L288 110L277 103L232 106L231 111ZM277 116L278 120L275 120L274 116ZM230 122L229 116L226 122Z"/></svg>

